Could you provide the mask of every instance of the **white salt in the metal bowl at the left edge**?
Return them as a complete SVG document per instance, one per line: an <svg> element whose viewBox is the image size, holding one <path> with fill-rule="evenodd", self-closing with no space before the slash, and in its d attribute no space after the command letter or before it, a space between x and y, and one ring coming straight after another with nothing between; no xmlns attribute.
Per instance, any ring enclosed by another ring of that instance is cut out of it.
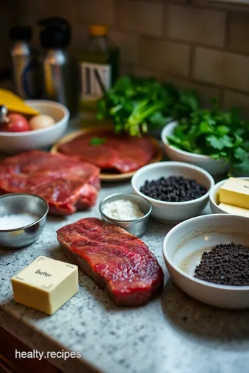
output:
<svg viewBox="0 0 249 373"><path fill-rule="evenodd" d="M0 216L0 230L6 231L8 229L16 229L26 227L39 219L31 213L11 213L10 215Z"/></svg>

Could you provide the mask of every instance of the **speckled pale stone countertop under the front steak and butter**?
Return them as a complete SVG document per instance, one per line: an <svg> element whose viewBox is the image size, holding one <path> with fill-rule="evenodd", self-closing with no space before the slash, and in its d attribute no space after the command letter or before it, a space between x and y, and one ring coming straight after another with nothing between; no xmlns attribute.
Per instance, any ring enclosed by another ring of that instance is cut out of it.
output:
<svg viewBox="0 0 249 373"><path fill-rule="evenodd" d="M98 202L117 191L131 192L129 182L104 185ZM165 271L165 287L148 305L116 307L82 271L79 293L53 316L15 303L10 277L39 255L68 261L55 231L86 216L99 216L98 204L67 218L48 218L44 233L29 247L0 249L3 328L32 349L81 352L82 358L50 360L68 373L248 372L249 312L214 309L183 294L163 262L162 242L170 227L153 220L142 240Z"/></svg>

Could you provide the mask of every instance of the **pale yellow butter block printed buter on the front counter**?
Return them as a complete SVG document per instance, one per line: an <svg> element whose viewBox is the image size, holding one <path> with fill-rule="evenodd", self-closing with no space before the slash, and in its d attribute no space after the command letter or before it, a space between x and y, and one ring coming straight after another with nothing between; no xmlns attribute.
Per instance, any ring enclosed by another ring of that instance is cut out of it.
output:
<svg viewBox="0 0 249 373"><path fill-rule="evenodd" d="M11 283L16 302L51 315L77 293L78 267L38 256Z"/></svg>

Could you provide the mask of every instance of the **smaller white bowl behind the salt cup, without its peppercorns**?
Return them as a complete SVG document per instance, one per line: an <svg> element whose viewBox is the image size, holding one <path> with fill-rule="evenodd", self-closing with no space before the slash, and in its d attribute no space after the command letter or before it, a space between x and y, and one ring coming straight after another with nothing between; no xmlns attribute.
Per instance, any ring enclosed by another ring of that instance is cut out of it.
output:
<svg viewBox="0 0 249 373"><path fill-rule="evenodd" d="M186 202L163 202L147 197L147 195L140 192L140 187L145 184L146 180L158 180L162 176L165 178L169 176L193 178L204 185L208 189L208 192L196 200ZM146 198L151 203L151 216L161 222L176 224L201 213L208 202L208 194L214 186L214 180L207 171L192 164L183 162L158 162L148 164L136 171L131 179L131 185L133 193Z"/></svg>

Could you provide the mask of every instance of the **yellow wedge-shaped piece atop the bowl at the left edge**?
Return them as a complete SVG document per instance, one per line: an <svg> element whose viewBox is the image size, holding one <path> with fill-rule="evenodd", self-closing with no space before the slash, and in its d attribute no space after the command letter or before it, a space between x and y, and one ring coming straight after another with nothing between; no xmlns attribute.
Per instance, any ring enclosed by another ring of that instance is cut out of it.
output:
<svg viewBox="0 0 249 373"><path fill-rule="evenodd" d="M38 115L39 111L30 108L19 96L10 92L10 90L0 88L0 105L6 105L8 111L15 111L26 115Z"/></svg>

